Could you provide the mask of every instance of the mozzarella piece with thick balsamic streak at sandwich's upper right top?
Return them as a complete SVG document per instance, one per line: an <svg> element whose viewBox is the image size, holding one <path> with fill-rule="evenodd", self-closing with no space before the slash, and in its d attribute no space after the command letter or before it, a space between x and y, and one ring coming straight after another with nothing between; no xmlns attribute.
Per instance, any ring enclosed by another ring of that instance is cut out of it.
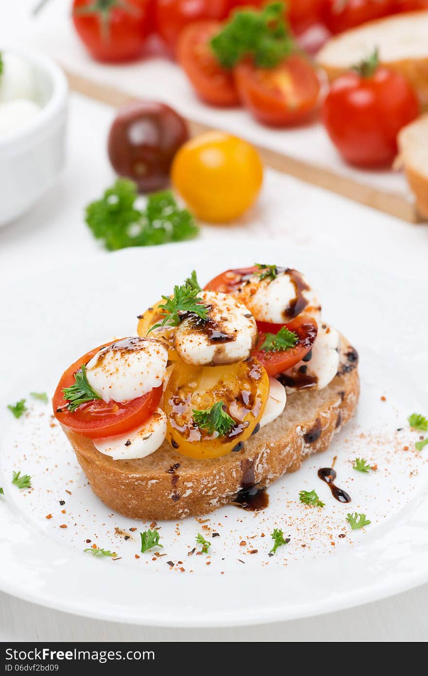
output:
<svg viewBox="0 0 428 676"><path fill-rule="evenodd" d="M300 312L319 314L315 291L297 270L279 268L275 279L252 276L234 293L261 322L284 324Z"/></svg>

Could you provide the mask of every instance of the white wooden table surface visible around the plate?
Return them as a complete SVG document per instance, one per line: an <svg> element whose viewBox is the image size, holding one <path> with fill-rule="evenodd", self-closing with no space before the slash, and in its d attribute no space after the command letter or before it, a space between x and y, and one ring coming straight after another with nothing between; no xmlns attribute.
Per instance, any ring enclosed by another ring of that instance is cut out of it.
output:
<svg viewBox="0 0 428 676"><path fill-rule="evenodd" d="M27 0L17 3L19 11L24 3L28 4ZM84 258L109 255L90 235L83 213L86 203L99 197L113 178L105 149L113 110L78 95L72 96L70 104L68 164L63 175L30 214L0 229L0 267L11 278L27 268L50 268L71 260L78 264ZM342 258L365 260L381 268L399 266L400 274L413 277L426 270L428 226L394 220L272 171L265 176L257 207L242 222L223 228L207 226L201 237L207 242L223 237L227 246L228 233L272 240L282 237L290 244L316 249L320 256L329 249ZM283 246L281 256L286 260L286 244ZM325 617L265 626L180 630L74 617L0 593L0 640L422 642L428 637L427 607L425 585Z"/></svg>

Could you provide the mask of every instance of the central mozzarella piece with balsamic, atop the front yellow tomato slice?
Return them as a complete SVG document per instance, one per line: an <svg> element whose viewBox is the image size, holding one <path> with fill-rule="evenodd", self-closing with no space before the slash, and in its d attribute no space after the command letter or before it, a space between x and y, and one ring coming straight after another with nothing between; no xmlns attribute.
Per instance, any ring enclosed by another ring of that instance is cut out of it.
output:
<svg viewBox="0 0 428 676"><path fill-rule="evenodd" d="M249 357L258 338L251 312L225 293L201 291L198 297L209 307L207 320L191 315L178 325L174 345L180 358L203 366L235 364Z"/></svg>

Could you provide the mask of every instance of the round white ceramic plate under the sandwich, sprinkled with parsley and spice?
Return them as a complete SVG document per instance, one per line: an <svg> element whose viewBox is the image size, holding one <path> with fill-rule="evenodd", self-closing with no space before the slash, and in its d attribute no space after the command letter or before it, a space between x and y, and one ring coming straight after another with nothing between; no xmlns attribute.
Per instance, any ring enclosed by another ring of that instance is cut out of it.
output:
<svg viewBox="0 0 428 676"><path fill-rule="evenodd" d="M139 532L149 524L112 514L92 494L64 435L53 427L50 404L28 393L52 393L61 372L87 349L134 334L136 315L192 268L205 283L255 260L295 266L319 290L325 319L360 353L358 414L329 450L269 488L264 512L228 506L203 524L194 518L159 523L166 556L137 559ZM427 581L428 448L414 449L419 434L406 423L413 411L428 413L428 322L421 313L427 289L397 274L278 241L244 244L223 237L219 246L128 249L8 280L0 333L0 588L101 619L200 627L309 616ZM15 420L5 405L21 397L29 410ZM333 500L317 479L317 469L331 466L336 455L337 483L351 494L350 505ZM353 470L356 456L377 464L377 471ZM30 491L11 485L14 469L32 476ZM313 488L325 508L298 502L298 491ZM349 511L364 512L371 525L351 531ZM269 557L275 527L290 543ZM115 528L132 537L125 540ZM198 531L209 539L219 533L209 557L188 556ZM119 560L84 554L87 540L114 550Z"/></svg>

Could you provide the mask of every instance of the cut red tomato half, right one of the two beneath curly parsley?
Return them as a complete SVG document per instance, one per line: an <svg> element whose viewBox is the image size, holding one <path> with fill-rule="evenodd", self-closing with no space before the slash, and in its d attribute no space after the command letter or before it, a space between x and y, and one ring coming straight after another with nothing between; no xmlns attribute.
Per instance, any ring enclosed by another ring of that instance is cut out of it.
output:
<svg viewBox="0 0 428 676"><path fill-rule="evenodd" d="M320 83L304 55L294 53L275 68L257 68L249 59L235 70L238 94L262 124L291 126L315 112Z"/></svg>

